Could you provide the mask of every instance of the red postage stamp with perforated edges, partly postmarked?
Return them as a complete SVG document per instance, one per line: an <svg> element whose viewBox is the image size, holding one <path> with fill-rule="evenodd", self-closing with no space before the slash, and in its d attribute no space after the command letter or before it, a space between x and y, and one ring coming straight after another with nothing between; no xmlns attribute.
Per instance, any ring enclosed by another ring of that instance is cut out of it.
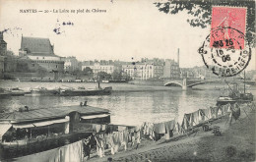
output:
<svg viewBox="0 0 256 162"><path fill-rule="evenodd" d="M211 47L244 49L246 8L213 7Z"/></svg>

